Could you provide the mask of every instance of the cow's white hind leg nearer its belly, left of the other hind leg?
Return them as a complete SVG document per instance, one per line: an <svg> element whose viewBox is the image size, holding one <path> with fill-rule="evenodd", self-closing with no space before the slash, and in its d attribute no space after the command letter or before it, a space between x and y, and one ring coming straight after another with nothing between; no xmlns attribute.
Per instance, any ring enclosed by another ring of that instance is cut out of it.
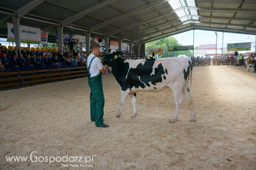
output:
<svg viewBox="0 0 256 170"><path fill-rule="evenodd" d="M176 87L170 87L172 89L173 92L173 97L175 100L175 114L173 115L171 120L168 120L170 123L174 123L177 119L178 119L178 115L180 113L180 108L183 102L182 99L182 88L180 87L180 85L177 85Z"/></svg>

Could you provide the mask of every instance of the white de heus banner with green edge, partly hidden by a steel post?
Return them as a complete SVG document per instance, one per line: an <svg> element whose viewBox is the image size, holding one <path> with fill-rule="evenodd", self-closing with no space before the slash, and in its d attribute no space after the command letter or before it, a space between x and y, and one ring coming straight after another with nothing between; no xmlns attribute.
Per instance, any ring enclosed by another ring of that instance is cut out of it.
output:
<svg viewBox="0 0 256 170"><path fill-rule="evenodd" d="M7 23L8 35L7 41L15 42L14 29L12 23ZM40 43L41 30L30 26L20 25L20 42L22 43Z"/></svg>

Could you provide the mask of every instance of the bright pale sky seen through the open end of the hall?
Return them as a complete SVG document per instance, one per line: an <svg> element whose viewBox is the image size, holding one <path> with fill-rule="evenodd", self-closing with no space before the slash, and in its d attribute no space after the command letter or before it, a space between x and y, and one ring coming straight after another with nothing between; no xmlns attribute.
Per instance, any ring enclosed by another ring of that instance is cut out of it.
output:
<svg viewBox="0 0 256 170"><path fill-rule="evenodd" d="M222 48L222 32L218 32L217 48ZM255 42L255 35L225 33L223 39L223 48L227 47L227 43L239 43L244 41L249 36L249 39ZM193 30L173 35L176 40L183 46L193 45ZM195 30L194 47L204 44L216 44L216 35L214 31Z"/></svg>

